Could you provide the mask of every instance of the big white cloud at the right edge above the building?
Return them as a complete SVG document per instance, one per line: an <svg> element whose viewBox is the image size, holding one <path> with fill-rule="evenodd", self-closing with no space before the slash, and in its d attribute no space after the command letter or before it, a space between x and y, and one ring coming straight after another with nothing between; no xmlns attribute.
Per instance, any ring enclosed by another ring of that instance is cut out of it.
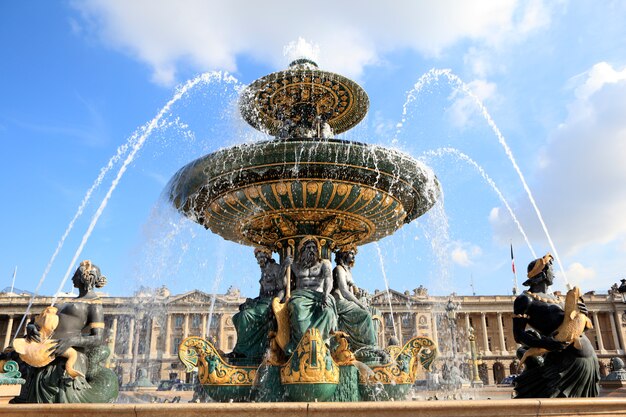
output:
<svg viewBox="0 0 626 417"><path fill-rule="evenodd" d="M533 186L566 256L626 238L626 68L601 62L576 80L575 99L541 152ZM534 213L522 208L518 214L527 233L545 242ZM497 217L492 225L505 236L512 226Z"/></svg>

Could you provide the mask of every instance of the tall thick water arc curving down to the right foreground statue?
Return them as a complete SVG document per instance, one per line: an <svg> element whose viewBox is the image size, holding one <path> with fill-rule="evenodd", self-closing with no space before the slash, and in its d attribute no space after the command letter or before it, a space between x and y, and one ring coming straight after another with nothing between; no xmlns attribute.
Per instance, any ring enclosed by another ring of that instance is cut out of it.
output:
<svg viewBox="0 0 626 417"><path fill-rule="evenodd" d="M491 118L491 115L487 111L487 108L485 107L485 105L470 90L470 88L467 86L467 84L465 84L463 82L463 80L461 80L458 76L453 74L452 71L449 70L449 69L443 69L443 70L442 69L431 69L426 74L422 75L420 77L420 79L417 81L417 83L415 83L415 86L413 87L413 90L411 90L411 92L409 92L409 94L408 94L407 100L406 100L406 102L405 102L405 104L403 106L403 109L402 109L402 119L401 119L401 122L398 123L398 125L397 125L397 132L402 128L403 124L406 122L406 115L407 115L408 105L417 98L417 95L420 93L420 91L422 90L424 85L438 80L441 76L445 76L450 84L452 84L457 89L459 89L460 91L464 92L472 100L474 100L474 103L480 109L480 112L481 112L482 116L485 118L485 120L487 121L487 124L491 127L492 131L495 133L496 137L498 138L498 141L500 142L500 145L502 145L502 148L504 149L504 152L506 153L507 157L509 158L509 161L511 161L511 164L513 165L513 168L517 172L517 175L519 176L520 181L522 182L522 185L524 187L524 191L526 191L526 194L528 195L528 199L530 200L530 203L532 204L533 209L535 210L535 213L537 214L537 218L539 219L539 222L541 223L541 227L543 228L543 231L544 231L544 233L546 235L546 238L548 239L548 243L550 244L550 248L552 249L554 257L555 257L557 263L559 264L559 268L561 270L561 273L563 274L563 279L565 280L566 286L567 286L567 288L569 288L570 284L569 284L569 281L567 280L567 275L565 273L565 268L563 268L563 264L561 263L561 258L559 256L557 250L556 250L556 247L554 246L554 242L552 241L552 237L550 236L550 233L548 232L548 227L546 226L546 224L545 224L545 222L543 220L543 216L541 215L541 212L539 211L539 207L537 206L537 203L535 202L535 198L533 197L533 194L530 191L530 187L526 183L526 179L525 179L524 175L522 174L521 169L517 165L517 161L515 160L515 157L513 156L513 152L511 151L511 148L509 148L508 144L506 143L506 140L504 139L504 136L500 132L500 129L498 129L498 126L496 126L496 123ZM396 136L397 136L397 134L396 134Z"/></svg>

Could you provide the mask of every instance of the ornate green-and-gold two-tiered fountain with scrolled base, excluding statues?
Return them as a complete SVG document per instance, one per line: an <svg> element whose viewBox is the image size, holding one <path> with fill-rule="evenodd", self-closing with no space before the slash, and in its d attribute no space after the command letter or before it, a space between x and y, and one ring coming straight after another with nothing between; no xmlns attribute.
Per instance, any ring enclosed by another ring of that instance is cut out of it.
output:
<svg viewBox="0 0 626 417"><path fill-rule="evenodd" d="M304 239L314 238L329 260L340 248L389 236L434 205L439 184L407 154L332 138L358 124L368 106L353 81L296 60L253 82L240 99L243 118L275 139L191 162L172 178L170 200L224 239L277 252L281 260ZM285 305L289 294L287 285ZM340 336L329 344L315 327L290 350L280 341L289 338L285 331L279 325L261 360L229 357L199 337L185 339L179 357L188 370L198 368L217 401L347 401L372 399L381 390L402 398L418 365L429 369L437 354L432 340L415 337L355 356Z"/></svg>

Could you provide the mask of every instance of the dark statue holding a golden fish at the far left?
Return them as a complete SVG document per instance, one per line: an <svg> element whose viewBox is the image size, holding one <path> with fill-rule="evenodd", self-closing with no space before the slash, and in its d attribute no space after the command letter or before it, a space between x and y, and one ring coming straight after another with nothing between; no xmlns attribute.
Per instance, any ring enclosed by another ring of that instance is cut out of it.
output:
<svg viewBox="0 0 626 417"><path fill-rule="evenodd" d="M106 277L96 265L83 261L72 283L78 289L76 299L61 304L58 311L45 309L27 325L27 343L47 339L43 346L52 360L27 367L26 384L16 402L97 403L117 398L117 376L102 365L109 350L102 301L94 292L106 284Z"/></svg>

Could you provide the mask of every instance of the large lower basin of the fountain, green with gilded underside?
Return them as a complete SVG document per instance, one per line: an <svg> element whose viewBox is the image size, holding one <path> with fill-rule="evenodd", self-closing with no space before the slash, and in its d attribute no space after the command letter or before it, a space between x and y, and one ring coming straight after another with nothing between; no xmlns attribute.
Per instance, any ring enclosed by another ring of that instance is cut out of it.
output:
<svg viewBox="0 0 626 417"><path fill-rule="evenodd" d="M277 250L315 235L323 256L392 234L438 194L432 171L409 155L336 139L234 146L186 165L170 186L179 211L224 239Z"/></svg>

